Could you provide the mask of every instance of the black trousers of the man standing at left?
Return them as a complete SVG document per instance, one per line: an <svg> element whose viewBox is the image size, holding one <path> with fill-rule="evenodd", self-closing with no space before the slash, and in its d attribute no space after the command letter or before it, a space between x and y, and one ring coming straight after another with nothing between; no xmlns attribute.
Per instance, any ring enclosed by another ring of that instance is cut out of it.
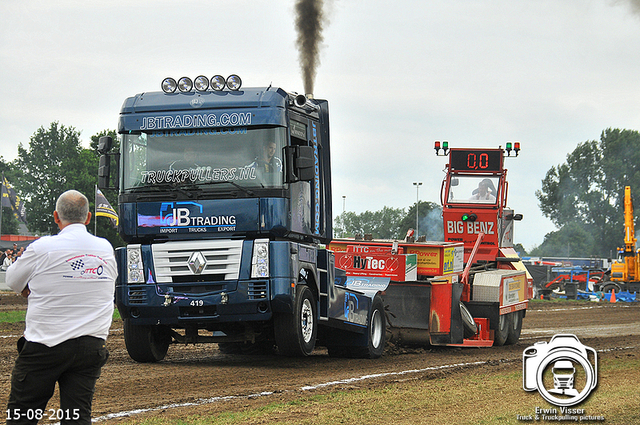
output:
<svg viewBox="0 0 640 425"><path fill-rule="evenodd" d="M105 341L91 336L53 347L26 341L11 374L7 423L90 424L96 381L108 357ZM47 409L56 382L60 409Z"/></svg>

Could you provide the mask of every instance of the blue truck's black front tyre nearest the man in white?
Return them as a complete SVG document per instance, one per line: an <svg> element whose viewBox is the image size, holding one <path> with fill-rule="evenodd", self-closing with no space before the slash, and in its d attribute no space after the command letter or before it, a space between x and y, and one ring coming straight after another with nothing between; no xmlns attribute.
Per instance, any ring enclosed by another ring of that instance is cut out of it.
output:
<svg viewBox="0 0 640 425"><path fill-rule="evenodd" d="M124 343L129 356L140 363L155 363L167 355L171 335L162 326L138 326L124 319Z"/></svg>

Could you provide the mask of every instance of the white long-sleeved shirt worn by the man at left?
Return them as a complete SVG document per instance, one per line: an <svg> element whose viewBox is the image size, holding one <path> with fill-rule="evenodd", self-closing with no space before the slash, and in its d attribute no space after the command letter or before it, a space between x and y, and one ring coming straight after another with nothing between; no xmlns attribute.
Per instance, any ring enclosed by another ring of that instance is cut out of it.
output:
<svg viewBox="0 0 640 425"><path fill-rule="evenodd" d="M107 339L118 274L113 247L84 224L66 226L34 242L7 269L16 292L29 285L27 341L48 347L68 339Z"/></svg>

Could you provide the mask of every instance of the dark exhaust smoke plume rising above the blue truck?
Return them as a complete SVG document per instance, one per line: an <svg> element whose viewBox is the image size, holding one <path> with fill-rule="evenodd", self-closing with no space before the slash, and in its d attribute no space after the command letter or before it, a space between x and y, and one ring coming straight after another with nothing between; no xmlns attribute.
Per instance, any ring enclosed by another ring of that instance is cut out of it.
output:
<svg viewBox="0 0 640 425"><path fill-rule="evenodd" d="M298 52L302 68L302 80L307 94L313 93L317 67L320 64L319 51L322 42L322 26L325 22L322 11L323 0L296 1L296 29L298 31Z"/></svg>

